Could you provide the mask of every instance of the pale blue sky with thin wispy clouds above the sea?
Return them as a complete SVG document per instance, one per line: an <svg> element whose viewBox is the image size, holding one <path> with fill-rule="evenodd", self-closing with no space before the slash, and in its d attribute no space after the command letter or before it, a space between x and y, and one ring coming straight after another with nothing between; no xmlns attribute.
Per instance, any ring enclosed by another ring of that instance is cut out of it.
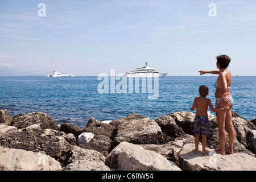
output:
<svg viewBox="0 0 256 182"><path fill-rule="evenodd" d="M233 75L255 76L255 32L255 0L1 0L0 67L98 76L147 61L167 76L199 76L225 54Z"/></svg>

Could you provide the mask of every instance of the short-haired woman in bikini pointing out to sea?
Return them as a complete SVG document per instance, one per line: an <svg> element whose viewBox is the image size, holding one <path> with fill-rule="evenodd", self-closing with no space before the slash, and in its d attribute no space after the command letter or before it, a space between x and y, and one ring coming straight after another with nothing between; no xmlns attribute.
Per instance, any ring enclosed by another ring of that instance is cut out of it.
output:
<svg viewBox="0 0 256 182"><path fill-rule="evenodd" d="M226 69L229 66L230 58L226 55L220 55L216 57L218 71L199 71L200 75L205 73L218 74L218 78L214 83L216 88L215 98L216 98L216 108L224 107L229 105L228 110L220 111L216 113L218 121L218 137L220 139L220 148L216 150L217 154L225 155L225 153L233 154L233 143L234 143L234 127L232 123L232 106L233 98L230 94L232 75L231 72ZM229 147L225 151L226 142L226 132L225 126L228 129L229 134Z"/></svg>

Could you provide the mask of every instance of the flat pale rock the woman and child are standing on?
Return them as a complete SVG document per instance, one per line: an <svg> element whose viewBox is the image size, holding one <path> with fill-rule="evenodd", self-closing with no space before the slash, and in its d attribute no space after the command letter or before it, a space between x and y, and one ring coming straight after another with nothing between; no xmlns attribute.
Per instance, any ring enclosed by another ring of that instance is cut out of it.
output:
<svg viewBox="0 0 256 182"><path fill-rule="evenodd" d="M230 155L216 154L213 150L209 154L203 155L201 152L195 154L194 143L187 143L183 146L179 154L180 167L189 171L255 171L256 158L244 153L234 153ZM202 146L199 144L199 150Z"/></svg>

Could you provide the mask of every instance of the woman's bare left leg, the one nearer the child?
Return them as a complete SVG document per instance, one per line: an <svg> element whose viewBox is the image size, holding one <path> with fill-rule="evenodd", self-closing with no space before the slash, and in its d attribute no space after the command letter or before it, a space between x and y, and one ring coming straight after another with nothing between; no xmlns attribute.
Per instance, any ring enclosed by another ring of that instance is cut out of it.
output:
<svg viewBox="0 0 256 182"><path fill-rule="evenodd" d="M225 131L225 120L226 111L216 112L216 118L218 121L218 138L220 140L220 148L216 150L217 154L225 155L225 142L226 142L226 131Z"/></svg>

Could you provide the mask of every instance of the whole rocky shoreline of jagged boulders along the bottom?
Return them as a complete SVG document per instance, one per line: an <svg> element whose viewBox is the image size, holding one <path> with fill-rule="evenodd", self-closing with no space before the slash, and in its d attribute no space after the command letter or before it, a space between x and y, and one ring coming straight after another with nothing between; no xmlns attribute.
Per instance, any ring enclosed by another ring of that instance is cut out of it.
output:
<svg viewBox="0 0 256 182"><path fill-rule="evenodd" d="M195 114L188 111L154 120L140 114L109 123L91 118L82 129L73 123L58 126L42 112L13 118L0 110L0 170L256 170L255 119L247 121L233 112L234 154L223 156L214 153L219 145L217 120L208 115L211 152L203 155L192 152Z"/></svg>

